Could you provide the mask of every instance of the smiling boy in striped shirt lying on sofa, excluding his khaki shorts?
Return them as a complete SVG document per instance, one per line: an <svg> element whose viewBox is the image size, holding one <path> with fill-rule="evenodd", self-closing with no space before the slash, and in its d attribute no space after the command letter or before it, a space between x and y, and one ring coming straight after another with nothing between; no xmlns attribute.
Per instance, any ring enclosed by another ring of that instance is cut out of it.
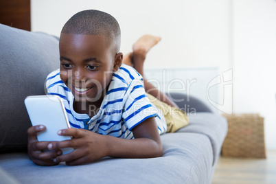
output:
<svg viewBox="0 0 276 184"><path fill-rule="evenodd" d="M32 161L37 165L62 161L78 165L102 157L161 157L159 134L167 131L167 125L159 108L149 102L145 89L166 105L176 108L176 104L142 77L146 54L160 39L141 37L133 45L133 53L123 60L119 24L113 16L97 10L72 16L60 34L60 69L50 73L46 82L48 95L65 99L73 127L60 130L58 135L72 139L38 142L36 134L45 126L29 128ZM185 113L179 117L187 123ZM74 150L62 154L60 148ZM43 152L45 149L54 151Z"/></svg>

